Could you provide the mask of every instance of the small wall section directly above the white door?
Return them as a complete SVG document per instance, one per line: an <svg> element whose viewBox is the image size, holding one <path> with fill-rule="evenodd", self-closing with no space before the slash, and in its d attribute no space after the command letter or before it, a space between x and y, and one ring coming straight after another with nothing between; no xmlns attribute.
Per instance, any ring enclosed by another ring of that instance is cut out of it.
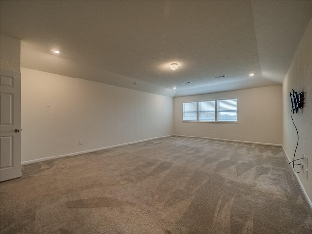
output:
<svg viewBox="0 0 312 234"><path fill-rule="evenodd" d="M20 40L0 35L1 69L20 72Z"/></svg>

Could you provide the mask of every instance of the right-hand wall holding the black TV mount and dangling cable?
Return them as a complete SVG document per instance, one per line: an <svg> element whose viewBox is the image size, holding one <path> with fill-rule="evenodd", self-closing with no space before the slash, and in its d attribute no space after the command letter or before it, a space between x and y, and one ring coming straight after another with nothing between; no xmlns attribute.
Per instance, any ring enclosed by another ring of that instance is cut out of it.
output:
<svg viewBox="0 0 312 234"><path fill-rule="evenodd" d="M293 114L292 118L299 132L296 159L301 158L302 153L309 158L308 164L304 165L304 171L308 169L308 179L306 178L307 174L302 173L299 166L295 166L295 168L297 171L301 171L297 176L310 199L312 208L312 19L301 39L283 83L283 146L290 161L293 160L297 145L297 132L290 117L289 92L292 89L298 93L306 90L304 108L299 110L297 114Z"/></svg>

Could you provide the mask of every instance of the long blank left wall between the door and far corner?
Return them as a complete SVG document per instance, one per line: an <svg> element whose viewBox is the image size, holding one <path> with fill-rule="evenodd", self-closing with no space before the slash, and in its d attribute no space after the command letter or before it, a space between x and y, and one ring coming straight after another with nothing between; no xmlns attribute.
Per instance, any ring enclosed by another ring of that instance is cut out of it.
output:
<svg viewBox="0 0 312 234"><path fill-rule="evenodd" d="M171 97L27 68L21 73L22 162L173 132Z"/></svg>

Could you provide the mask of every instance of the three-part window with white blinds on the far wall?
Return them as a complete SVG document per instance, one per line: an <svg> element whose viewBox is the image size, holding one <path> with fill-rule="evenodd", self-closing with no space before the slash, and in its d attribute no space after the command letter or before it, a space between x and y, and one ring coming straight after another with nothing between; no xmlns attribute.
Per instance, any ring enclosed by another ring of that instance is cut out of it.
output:
<svg viewBox="0 0 312 234"><path fill-rule="evenodd" d="M237 98L184 102L183 121L237 122Z"/></svg>

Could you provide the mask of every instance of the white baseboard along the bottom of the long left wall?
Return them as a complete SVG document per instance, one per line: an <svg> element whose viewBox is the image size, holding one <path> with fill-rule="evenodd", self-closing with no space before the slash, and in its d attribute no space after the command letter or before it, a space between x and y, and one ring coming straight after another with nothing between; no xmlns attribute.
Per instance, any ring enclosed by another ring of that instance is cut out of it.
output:
<svg viewBox="0 0 312 234"><path fill-rule="evenodd" d="M102 147L102 148L98 148L98 149L92 149L92 150L79 151L79 152L70 153L70 154L57 155L57 156L51 156L51 157L44 157L44 158L39 158L39 159L35 159L35 160L21 162L21 165L27 165L27 164L31 164L31 163L35 163L35 162L42 162L42 161L52 160L52 159L61 158L61 157L81 155L81 154L85 154L85 153L89 153L89 152L105 150L105 149L115 148L115 147L118 147L118 146L130 145L130 144L135 144L135 143L139 143L139 142L143 142L143 141L154 140L154 139L159 139L159 138L164 138L164 137L171 137L171 136L173 136L173 135L167 135L167 136L162 136L162 137L154 137L154 138L149 138L149 139L144 139L144 140L132 141L132 142L128 142L128 143L123 143L123 144L118 144L118 145L111 145L111 146L106 146L106 147Z"/></svg>

